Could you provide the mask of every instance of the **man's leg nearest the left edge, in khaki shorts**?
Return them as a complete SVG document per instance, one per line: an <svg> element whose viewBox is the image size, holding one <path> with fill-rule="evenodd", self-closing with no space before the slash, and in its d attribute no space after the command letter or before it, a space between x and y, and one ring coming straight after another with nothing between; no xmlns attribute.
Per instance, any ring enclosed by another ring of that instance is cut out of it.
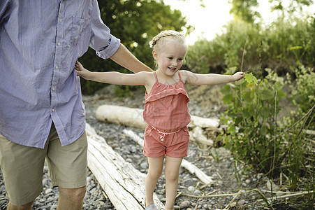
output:
<svg viewBox="0 0 315 210"><path fill-rule="evenodd" d="M31 209L43 190L45 150L22 146L0 135L0 165L8 209Z"/></svg>

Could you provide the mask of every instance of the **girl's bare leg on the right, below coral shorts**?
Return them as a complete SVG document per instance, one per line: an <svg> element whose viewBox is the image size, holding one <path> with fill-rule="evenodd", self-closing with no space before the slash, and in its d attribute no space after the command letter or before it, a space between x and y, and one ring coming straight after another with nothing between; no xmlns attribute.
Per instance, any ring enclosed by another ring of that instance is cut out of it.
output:
<svg viewBox="0 0 315 210"><path fill-rule="evenodd" d="M174 201L177 193L178 176L182 158L172 158L166 156L165 178L166 178L166 210L174 209Z"/></svg>

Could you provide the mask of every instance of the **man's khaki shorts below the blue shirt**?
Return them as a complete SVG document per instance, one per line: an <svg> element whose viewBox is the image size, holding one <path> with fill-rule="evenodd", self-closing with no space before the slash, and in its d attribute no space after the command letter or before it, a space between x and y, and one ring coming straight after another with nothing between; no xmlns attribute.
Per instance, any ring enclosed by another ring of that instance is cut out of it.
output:
<svg viewBox="0 0 315 210"><path fill-rule="evenodd" d="M61 147L52 126L45 148L21 146L0 135L0 166L6 197L13 205L27 204L43 191L45 158L54 187L81 188L87 185L87 136Z"/></svg>

